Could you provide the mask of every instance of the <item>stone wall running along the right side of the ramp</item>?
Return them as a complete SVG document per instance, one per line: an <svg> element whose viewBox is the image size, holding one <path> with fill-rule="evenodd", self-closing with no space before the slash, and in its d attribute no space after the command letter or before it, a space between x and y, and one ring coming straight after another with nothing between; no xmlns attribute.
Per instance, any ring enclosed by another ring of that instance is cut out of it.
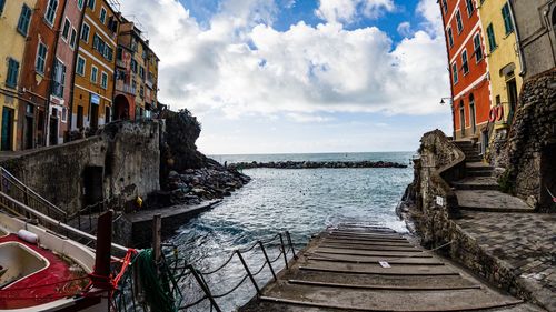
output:
<svg viewBox="0 0 556 312"><path fill-rule="evenodd" d="M436 248L500 289L523 299L530 291L514 274L512 266L481 249L479 242L455 220L460 218L457 198L449 182L465 174L465 155L445 134L435 130L421 139L420 159L415 161L415 178L406 202L421 244Z"/></svg>

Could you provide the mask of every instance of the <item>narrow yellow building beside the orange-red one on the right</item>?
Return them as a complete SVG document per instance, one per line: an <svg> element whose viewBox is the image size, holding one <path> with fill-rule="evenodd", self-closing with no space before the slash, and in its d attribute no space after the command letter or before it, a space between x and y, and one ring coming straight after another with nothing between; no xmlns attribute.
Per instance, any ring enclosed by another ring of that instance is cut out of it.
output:
<svg viewBox="0 0 556 312"><path fill-rule="evenodd" d="M517 105L523 79L515 20L509 0L477 0L490 78L490 139L505 138Z"/></svg>

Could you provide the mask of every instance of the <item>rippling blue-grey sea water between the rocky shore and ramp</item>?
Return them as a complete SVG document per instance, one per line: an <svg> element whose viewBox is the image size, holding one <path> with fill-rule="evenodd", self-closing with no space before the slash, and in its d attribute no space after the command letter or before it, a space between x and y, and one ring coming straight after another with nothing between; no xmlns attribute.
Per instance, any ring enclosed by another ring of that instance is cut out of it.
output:
<svg viewBox="0 0 556 312"><path fill-rule="evenodd" d="M413 152L214 155L221 163L381 160L408 168L244 170L251 182L215 209L189 220L170 242L178 246L180 258L207 272L222 264L235 250L284 231L289 231L297 250L311 235L341 222L381 224L404 232L405 223L396 215L395 208L413 179L411 155ZM269 258L276 259L279 245L278 239L268 245ZM247 252L245 258L254 272L264 263L257 250ZM284 263L275 262L275 269L281 269ZM242 278L245 269L237 256L222 271L206 276L214 294L228 291ZM270 279L268 268L256 278L260 286ZM186 290L186 302L200 298L200 290L193 290L195 281L180 283ZM238 290L217 302L224 311L234 311L252 295L255 289L246 279ZM191 311L205 311L207 303Z"/></svg>

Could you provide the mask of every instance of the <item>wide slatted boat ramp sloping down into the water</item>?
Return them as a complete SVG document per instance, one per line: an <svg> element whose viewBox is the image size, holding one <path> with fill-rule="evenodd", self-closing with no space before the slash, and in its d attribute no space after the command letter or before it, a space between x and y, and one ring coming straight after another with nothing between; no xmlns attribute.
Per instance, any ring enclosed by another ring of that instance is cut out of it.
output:
<svg viewBox="0 0 556 312"><path fill-rule="evenodd" d="M299 253L239 311L542 311L500 293L407 236L342 224Z"/></svg>

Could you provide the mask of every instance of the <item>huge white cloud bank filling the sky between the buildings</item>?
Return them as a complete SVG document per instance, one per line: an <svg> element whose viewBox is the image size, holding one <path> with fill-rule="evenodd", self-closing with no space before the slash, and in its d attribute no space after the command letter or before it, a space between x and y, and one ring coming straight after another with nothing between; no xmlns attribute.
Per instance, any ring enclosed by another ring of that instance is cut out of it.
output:
<svg viewBox="0 0 556 312"><path fill-rule="evenodd" d="M159 99L172 108L319 121L320 112L438 112L438 99L448 94L444 41L428 31L393 47L375 27L299 22L277 31L271 0L226 2L208 28L175 0L121 2L123 13L135 14L150 36L161 59ZM394 10L390 0L332 2L346 4L347 13L329 11L330 21L355 18L354 3L369 16ZM434 24L421 3L418 12Z"/></svg>

